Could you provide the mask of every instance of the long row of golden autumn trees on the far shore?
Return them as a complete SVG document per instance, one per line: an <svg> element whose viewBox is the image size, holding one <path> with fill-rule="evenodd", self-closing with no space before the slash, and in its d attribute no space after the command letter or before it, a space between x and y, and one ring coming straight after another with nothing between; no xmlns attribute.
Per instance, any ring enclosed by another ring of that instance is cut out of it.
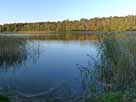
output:
<svg viewBox="0 0 136 102"><path fill-rule="evenodd" d="M62 31L134 31L136 16L103 17L62 22L13 23L0 25L0 32L62 32Z"/></svg>

